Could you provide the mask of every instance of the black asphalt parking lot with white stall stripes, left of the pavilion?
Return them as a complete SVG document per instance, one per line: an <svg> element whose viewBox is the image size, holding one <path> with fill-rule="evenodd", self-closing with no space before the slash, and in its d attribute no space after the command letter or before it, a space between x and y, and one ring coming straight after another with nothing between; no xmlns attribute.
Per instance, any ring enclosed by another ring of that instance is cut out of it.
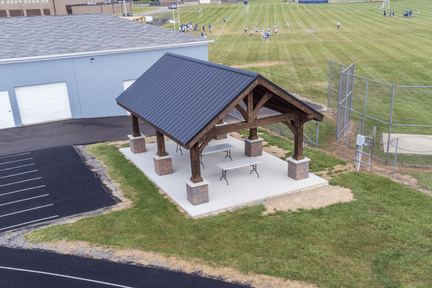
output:
<svg viewBox="0 0 432 288"><path fill-rule="evenodd" d="M73 146L0 156L0 233L115 204Z"/></svg>

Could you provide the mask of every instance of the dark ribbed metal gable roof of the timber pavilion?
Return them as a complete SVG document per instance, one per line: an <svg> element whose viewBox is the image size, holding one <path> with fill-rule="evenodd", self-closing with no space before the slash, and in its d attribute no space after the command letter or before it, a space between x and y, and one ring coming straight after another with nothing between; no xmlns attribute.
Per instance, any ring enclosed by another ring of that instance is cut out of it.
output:
<svg viewBox="0 0 432 288"><path fill-rule="evenodd" d="M116 100L163 134L187 146L258 79L283 94L282 98L272 97L269 104L296 111L300 107L308 114L322 117L257 73L169 52ZM267 91L262 85L255 86L254 98L260 99Z"/></svg>

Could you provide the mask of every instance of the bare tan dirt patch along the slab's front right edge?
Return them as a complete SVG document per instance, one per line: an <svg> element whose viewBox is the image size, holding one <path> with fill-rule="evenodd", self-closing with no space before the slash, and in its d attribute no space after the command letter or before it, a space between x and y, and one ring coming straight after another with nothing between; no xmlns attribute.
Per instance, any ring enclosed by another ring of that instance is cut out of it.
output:
<svg viewBox="0 0 432 288"><path fill-rule="evenodd" d="M295 211L299 208L311 210L325 207L334 203L353 201L354 195L351 189L340 186L321 186L308 189L292 195L275 198L264 204L267 211L263 215L275 211Z"/></svg>

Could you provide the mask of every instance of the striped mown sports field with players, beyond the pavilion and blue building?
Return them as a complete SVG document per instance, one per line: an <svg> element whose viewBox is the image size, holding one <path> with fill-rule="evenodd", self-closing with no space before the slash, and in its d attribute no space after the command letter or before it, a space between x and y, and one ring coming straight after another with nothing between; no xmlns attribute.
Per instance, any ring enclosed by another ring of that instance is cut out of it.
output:
<svg viewBox="0 0 432 288"><path fill-rule="evenodd" d="M327 103L330 59L346 65L355 61L356 75L384 83L431 86L432 1L391 1L388 10L395 18L389 18L388 11L384 18L383 10L375 9L377 3L252 1L250 13L242 16L243 4L187 6L180 8L180 20L197 22L197 34L205 25L207 37L216 40L209 44L210 61L260 73L290 93L317 102ZM406 10L413 10L412 18L402 17ZM273 30L273 24L279 32L272 33L269 42L255 33L249 38L251 28ZM248 35L243 35L245 26ZM173 24L164 27L172 29Z"/></svg>

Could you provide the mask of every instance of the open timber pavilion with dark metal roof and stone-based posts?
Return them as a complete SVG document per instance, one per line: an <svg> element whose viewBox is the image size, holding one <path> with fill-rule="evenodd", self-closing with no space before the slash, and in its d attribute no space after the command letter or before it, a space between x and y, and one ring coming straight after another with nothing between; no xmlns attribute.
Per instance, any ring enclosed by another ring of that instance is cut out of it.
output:
<svg viewBox="0 0 432 288"><path fill-rule="evenodd" d="M322 114L260 74L169 52L116 100L132 115L133 133L129 139L133 154L146 152L138 118L155 128L157 153L153 160L159 176L173 173L172 156L165 151L164 136L190 151L191 177L185 181L187 199L193 205L209 202L208 181L201 176L200 156L212 139L224 139L227 133L249 129L245 154L259 157L263 139L258 137L257 127L283 123L292 130L295 143L294 155L287 159L288 176L300 180L308 178L310 160L303 156L303 125L323 120ZM241 101L246 109L240 105ZM281 114L258 118L262 107ZM245 121L232 124L222 121L233 108L238 109Z"/></svg>

